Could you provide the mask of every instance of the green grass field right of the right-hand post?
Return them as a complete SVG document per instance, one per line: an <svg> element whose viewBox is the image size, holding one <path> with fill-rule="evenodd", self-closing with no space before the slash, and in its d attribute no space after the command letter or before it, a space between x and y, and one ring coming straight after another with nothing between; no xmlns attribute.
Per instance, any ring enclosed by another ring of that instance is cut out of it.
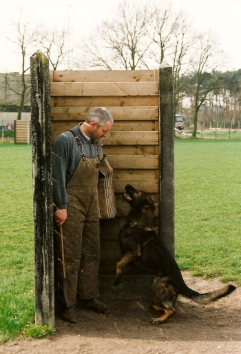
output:
<svg viewBox="0 0 241 354"><path fill-rule="evenodd" d="M241 282L241 141L175 141L176 259L193 275Z"/></svg>

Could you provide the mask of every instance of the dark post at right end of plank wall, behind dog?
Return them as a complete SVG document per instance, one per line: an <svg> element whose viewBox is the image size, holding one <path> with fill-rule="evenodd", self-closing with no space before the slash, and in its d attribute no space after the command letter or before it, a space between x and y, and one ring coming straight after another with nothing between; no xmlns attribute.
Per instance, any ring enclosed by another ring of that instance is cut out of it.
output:
<svg viewBox="0 0 241 354"><path fill-rule="evenodd" d="M160 66L159 85L160 235L175 256L174 105L172 68L167 63Z"/></svg>

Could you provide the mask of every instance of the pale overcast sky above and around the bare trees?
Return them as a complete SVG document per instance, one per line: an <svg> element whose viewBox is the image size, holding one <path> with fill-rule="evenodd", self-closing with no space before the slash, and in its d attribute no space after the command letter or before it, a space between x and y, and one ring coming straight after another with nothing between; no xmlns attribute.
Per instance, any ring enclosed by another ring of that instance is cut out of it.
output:
<svg viewBox="0 0 241 354"><path fill-rule="evenodd" d="M132 3L134 0L127 0ZM138 2L138 0L135 0ZM140 3L155 0L140 0ZM73 41L87 36L103 19L111 18L119 0L0 0L0 72L21 70L21 57L13 53L6 35L14 39L12 23L22 18L51 28L68 23ZM198 30L211 30L230 59L228 70L241 68L241 0L165 0L174 10L185 10Z"/></svg>

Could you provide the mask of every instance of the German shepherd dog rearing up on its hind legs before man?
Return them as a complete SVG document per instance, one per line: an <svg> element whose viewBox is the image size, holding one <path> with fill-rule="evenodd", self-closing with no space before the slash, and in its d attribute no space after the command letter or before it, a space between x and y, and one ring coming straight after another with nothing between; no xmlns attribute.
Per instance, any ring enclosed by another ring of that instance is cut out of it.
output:
<svg viewBox="0 0 241 354"><path fill-rule="evenodd" d="M235 290L235 286L227 285L211 293L200 294L189 288L176 260L153 228L154 201L143 190L136 190L129 184L125 190L127 193L123 197L131 209L118 235L123 257L116 264L114 284L121 282L123 273L131 264L142 266L149 274L156 275L151 287L151 307L164 313L154 319L153 324L163 323L176 313L174 305L179 294L199 304L208 304Z"/></svg>

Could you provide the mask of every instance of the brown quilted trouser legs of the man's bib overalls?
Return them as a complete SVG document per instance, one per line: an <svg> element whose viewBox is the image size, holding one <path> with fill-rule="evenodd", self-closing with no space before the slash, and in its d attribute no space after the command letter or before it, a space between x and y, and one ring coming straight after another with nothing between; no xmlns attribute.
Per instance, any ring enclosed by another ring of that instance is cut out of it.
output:
<svg viewBox="0 0 241 354"><path fill-rule="evenodd" d="M100 262L99 211L96 188L67 189L67 219L63 224L65 304L78 299L94 299L98 293Z"/></svg>

